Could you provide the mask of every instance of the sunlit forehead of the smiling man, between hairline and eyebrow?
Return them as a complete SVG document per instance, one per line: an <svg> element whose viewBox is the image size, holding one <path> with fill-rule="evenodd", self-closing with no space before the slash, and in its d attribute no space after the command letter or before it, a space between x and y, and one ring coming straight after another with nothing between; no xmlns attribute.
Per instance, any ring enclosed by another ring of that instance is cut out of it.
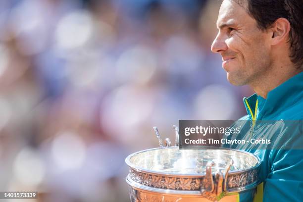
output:
<svg viewBox="0 0 303 202"><path fill-rule="evenodd" d="M247 15L245 8L234 0L223 0L219 10L217 27L219 28L225 24L237 24L239 20L243 20Z"/></svg>

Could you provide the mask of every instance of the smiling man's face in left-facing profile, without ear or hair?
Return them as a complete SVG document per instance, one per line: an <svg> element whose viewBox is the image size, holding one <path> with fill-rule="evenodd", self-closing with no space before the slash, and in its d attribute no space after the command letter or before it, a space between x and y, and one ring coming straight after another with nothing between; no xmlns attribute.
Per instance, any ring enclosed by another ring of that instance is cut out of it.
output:
<svg viewBox="0 0 303 202"><path fill-rule="evenodd" d="M268 33L257 27L244 7L233 0L223 0L217 20L218 35L211 46L211 51L222 56L228 81L237 86L256 82L271 64Z"/></svg>

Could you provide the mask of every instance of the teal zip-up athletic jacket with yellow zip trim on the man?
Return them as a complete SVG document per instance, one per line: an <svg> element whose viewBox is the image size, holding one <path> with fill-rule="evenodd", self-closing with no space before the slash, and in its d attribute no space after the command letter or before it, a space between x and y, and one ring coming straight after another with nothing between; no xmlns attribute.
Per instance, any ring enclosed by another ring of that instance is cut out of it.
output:
<svg viewBox="0 0 303 202"><path fill-rule="evenodd" d="M263 183L256 193L240 194L239 201L252 201L253 196L253 202L303 202L303 72L270 91L266 100L254 94L244 98L244 104L248 115L241 119L250 120L251 126L257 127L259 120L299 122L293 127L282 125L273 133L278 144L273 149L245 149L261 159Z"/></svg>

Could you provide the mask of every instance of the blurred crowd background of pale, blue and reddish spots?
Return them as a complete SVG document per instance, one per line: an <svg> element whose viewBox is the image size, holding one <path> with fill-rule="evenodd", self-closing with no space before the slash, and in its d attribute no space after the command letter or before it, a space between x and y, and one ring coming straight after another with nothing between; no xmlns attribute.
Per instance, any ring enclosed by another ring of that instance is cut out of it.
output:
<svg viewBox="0 0 303 202"><path fill-rule="evenodd" d="M129 202L124 159L158 147L153 126L244 115L251 90L210 51L219 6L0 0L0 191Z"/></svg>

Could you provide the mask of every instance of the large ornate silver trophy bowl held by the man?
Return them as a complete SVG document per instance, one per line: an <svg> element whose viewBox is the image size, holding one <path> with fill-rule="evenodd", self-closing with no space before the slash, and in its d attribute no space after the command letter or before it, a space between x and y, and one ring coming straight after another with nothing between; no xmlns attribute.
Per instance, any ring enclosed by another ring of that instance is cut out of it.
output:
<svg viewBox="0 0 303 202"><path fill-rule="evenodd" d="M126 158L132 202L232 202L258 185L260 159L237 150L163 147Z"/></svg>

